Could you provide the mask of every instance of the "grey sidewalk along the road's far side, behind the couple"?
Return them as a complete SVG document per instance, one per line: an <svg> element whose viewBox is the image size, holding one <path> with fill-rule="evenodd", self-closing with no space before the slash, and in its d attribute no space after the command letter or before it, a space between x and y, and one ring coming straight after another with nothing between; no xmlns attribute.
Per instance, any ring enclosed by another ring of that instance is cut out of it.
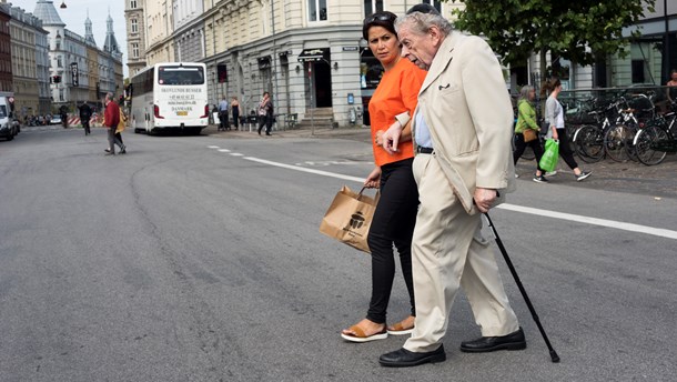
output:
<svg viewBox="0 0 677 382"><path fill-rule="evenodd" d="M246 127L246 125L245 125ZM256 129L245 131L216 131L215 125L210 125L203 130L204 133L212 137L222 138L239 138L254 139L259 137ZM307 129L280 130L273 131L272 137L275 138L335 138L347 139L364 143L371 142L371 132L366 128L338 128L338 129ZM610 190L627 193L637 193L649 195L651 198L677 198L677 154L668 153L665 161L658 165L644 165L638 162L614 162L610 159L605 159L597 163L585 163L579 158L576 158L578 165L584 171L593 171L593 174L577 182L572 171L564 161L559 160L557 164L557 174L548 177L550 181L543 187L557 187L557 184L566 184L572 187L582 187L597 190ZM518 181L532 181L536 170L536 161L526 161L521 159L515 167L515 172L519 174Z"/></svg>

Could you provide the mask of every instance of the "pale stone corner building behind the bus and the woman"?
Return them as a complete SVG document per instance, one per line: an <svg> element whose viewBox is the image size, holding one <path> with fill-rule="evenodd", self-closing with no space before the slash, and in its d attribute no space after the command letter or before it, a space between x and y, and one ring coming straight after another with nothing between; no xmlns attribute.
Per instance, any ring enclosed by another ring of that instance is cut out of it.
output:
<svg viewBox="0 0 677 382"><path fill-rule="evenodd" d="M168 57L205 62L211 103L238 97L243 114L269 91L277 114L307 120L323 113L334 123L347 124L351 112L366 111L364 104L381 76L377 61L361 42L363 19L383 9L404 13L418 2L172 0L171 7L158 2L153 11L146 3L146 60L149 66ZM458 7L432 2L448 17ZM171 50L173 56L168 54ZM222 79L220 67L225 67Z"/></svg>

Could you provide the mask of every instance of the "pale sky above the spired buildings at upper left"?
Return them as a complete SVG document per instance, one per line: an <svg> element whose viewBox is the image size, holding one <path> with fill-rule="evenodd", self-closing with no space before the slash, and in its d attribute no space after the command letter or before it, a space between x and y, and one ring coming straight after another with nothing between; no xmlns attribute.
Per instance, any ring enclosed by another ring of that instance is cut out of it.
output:
<svg viewBox="0 0 677 382"><path fill-rule="evenodd" d="M22 8L24 11L32 13L36 10L37 0L7 0L12 6ZM113 31L115 40L122 51L122 67L124 77L128 76L127 68L127 26L124 22L124 1L123 0L52 0L54 8L65 23L65 28L84 37L84 20L89 11L89 18L92 20L92 32L97 46L102 49L105 42L105 20L108 19L109 10L113 19ZM59 8L62 2L65 2L68 8Z"/></svg>

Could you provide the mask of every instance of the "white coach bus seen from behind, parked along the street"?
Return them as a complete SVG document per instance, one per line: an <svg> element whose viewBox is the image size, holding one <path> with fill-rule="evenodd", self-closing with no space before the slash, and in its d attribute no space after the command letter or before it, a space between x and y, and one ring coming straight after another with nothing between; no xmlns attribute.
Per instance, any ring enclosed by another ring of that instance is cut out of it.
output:
<svg viewBox="0 0 677 382"><path fill-rule="evenodd" d="M134 132L181 129L199 134L209 123L206 66L155 63L131 80L130 123Z"/></svg>

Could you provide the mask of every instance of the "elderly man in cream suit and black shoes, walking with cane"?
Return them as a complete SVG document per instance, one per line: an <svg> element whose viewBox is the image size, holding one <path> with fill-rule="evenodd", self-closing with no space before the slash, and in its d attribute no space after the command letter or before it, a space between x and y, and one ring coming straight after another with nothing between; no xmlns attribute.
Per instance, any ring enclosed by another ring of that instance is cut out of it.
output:
<svg viewBox="0 0 677 382"><path fill-rule="evenodd" d="M446 360L442 339L459 286L482 329L462 351L526 348L478 213L514 185L513 111L501 66L484 40L417 7L395 22L402 56L428 71L412 125L421 201L412 244L415 328L402 349L380 358L400 368ZM384 134L387 150L397 150L406 115L398 121Z"/></svg>

